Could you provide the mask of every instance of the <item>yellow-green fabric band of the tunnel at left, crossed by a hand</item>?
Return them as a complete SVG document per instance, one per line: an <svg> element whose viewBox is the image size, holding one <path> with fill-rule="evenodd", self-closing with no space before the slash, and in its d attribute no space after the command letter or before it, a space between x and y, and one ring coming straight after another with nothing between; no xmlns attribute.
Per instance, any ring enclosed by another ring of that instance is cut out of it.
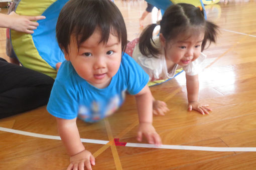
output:
<svg viewBox="0 0 256 170"><path fill-rule="evenodd" d="M16 13L41 15L56 0L21 0ZM20 62L28 68L56 78L56 70L39 55L31 34L11 30L12 45Z"/></svg>

